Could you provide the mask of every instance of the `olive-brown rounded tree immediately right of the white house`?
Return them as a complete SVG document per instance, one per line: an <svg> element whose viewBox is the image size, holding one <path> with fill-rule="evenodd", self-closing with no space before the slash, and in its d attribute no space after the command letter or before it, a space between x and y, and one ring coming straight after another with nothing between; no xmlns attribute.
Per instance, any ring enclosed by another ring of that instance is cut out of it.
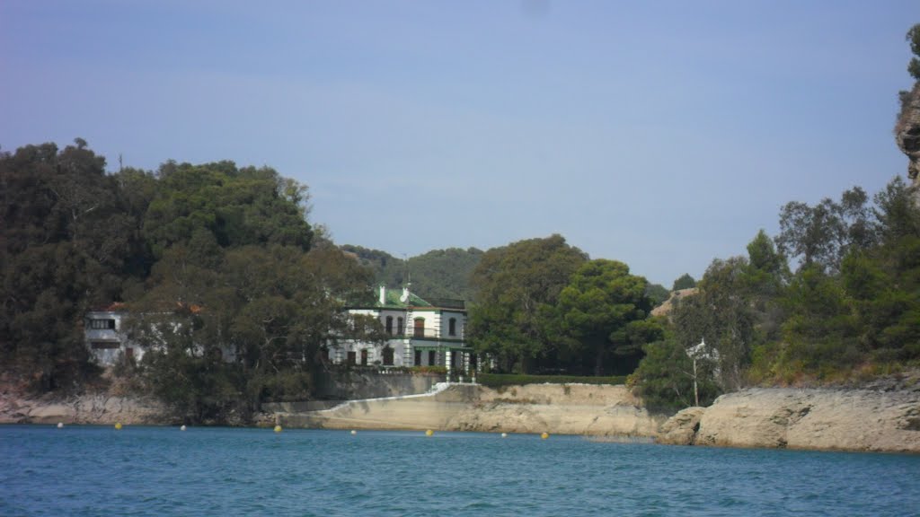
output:
<svg viewBox="0 0 920 517"><path fill-rule="evenodd" d="M556 304L571 274L587 256L554 235L489 249L473 271L477 304L469 339L478 352L495 354L504 368L522 372L554 348L546 334L546 310Z"/></svg>

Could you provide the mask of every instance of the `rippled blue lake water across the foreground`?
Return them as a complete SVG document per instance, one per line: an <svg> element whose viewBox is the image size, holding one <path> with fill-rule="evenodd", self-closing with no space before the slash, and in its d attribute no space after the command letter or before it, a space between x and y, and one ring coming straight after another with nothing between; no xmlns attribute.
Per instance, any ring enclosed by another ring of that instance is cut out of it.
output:
<svg viewBox="0 0 920 517"><path fill-rule="evenodd" d="M0 515L920 515L920 456L0 426Z"/></svg>

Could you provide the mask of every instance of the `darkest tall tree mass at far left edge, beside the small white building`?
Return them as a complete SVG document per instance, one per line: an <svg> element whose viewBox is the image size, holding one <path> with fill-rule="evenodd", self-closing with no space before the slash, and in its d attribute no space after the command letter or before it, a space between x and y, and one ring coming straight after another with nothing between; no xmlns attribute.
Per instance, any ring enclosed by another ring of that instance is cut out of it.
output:
<svg viewBox="0 0 920 517"><path fill-rule="evenodd" d="M72 386L86 363L83 316L144 273L143 213L86 142L0 154L0 361L42 390ZM138 257L141 257L138 259Z"/></svg>

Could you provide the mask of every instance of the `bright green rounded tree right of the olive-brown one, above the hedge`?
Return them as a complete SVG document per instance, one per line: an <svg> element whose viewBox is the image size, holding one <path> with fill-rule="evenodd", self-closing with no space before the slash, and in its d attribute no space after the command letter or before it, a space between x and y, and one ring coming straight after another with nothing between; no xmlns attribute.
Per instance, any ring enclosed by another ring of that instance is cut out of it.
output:
<svg viewBox="0 0 920 517"><path fill-rule="evenodd" d="M651 310L647 285L623 262L594 259L582 264L559 293L560 325L579 348L590 350L595 375L604 373L608 355L636 357L641 345L660 339L652 328L638 325Z"/></svg>

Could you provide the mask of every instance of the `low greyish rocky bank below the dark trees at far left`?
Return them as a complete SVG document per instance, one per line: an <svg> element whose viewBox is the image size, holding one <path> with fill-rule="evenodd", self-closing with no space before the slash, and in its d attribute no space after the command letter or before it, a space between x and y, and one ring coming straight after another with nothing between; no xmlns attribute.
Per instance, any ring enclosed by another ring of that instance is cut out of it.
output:
<svg viewBox="0 0 920 517"><path fill-rule="evenodd" d="M0 423L58 423L125 425L166 423L165 408L144 397L104 394L29 396L0 394Z"/></svg>

